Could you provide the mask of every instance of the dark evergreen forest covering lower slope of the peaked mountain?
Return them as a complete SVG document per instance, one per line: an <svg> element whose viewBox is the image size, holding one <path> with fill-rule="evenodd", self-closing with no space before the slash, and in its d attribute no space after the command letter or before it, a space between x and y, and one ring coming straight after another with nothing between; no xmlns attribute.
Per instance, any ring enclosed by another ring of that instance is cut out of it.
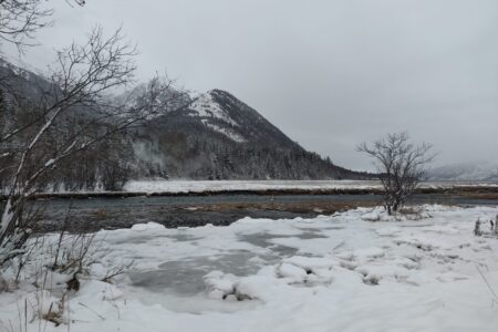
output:
<svg viewBox="0 0 498 332"><path fill-rule="evenodd" d="M330 158L293 145L237 143L187 117L156 121L136 133L138 175L193 179L343 179L369 174L339 167Z"/></svg>

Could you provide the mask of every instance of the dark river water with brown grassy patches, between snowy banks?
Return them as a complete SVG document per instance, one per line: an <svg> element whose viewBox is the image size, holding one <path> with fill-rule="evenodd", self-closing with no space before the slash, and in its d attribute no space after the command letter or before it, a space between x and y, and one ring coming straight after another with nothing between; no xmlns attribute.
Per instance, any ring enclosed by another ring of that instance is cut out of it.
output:
<svg viewBox="0 0 498 332"><path fill-rule="evenodd" d="M229 225L240 218L314 217L328 205L372 205L378 195L216 195L181 197L128 197L38 200L45 209L41 231L60 229L71 206L72 230L98 230L131 227L138 222L159 222L166 227ZM496 199L469 198L457 195L416 195L415 204L448 204L459 206L498 205ZM272 208L272 206L278 208ZM295 209L300 206L300 209ZM331 212L331 209L326 211Z"/></svg>

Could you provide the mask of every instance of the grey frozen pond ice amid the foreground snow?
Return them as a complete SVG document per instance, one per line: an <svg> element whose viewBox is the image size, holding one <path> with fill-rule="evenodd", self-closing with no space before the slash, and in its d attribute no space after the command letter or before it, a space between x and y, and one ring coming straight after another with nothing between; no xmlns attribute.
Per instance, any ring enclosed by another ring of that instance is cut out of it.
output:
<svg viewBox="0 0 498 332"><path fill-rule="evenodd" d="M194 246L197 240L201 239L183 234L167 237L142 236L129 239L128 243L154 242L162 238L177 242L191 242ZM272 242L272 240L283 238L311 240L326 237L313 229L297 229L293 236L268 232L241 234L237 236L238 241L253 245L263 249L263 251L229 250L219 255L165 261L155 269L132 270L128 272L131 284L128 284L127 290L146 303L160 303L163 307L178 312L200 313L206 310L232 312L250 309L261 303L259 301L242 301L230 304L206 299L205 276L214 270L224 271L236 277L256 274L262 267L276 264L298 252L298 248ZM165 298L169 300L165 301ZM175 301L170 299L175 299Z"/></svg>

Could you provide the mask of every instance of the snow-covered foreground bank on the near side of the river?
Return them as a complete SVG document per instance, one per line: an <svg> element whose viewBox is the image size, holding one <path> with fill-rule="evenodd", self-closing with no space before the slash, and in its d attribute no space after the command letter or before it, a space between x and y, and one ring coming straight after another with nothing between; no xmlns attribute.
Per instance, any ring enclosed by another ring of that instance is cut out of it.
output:
<svg viewBox="0 0 498 332"><path fill-rule="evenodd" d="M0 293L0 331L24 331L24 308L29 331L497 331L490 288L498 291L498 238L473 234L477 218L489 232L496 214L424 206L390 218L359 208L229 227L100 231L90 277L64 302L70 326L31 320L33 308L58 301L56 281L64 281L41 273L52 290L37 291L30 272L43 270L38 255L20 289ZM56 240L45 240L45 255ZM114 284L97 281L131 261Z"/></svg>

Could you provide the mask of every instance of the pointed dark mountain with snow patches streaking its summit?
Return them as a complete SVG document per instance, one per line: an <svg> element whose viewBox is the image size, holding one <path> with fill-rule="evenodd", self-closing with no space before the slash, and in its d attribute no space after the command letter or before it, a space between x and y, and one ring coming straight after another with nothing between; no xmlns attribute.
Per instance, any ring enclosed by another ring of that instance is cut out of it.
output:
<svg viewBox="0 0 498 332"><path fill-rule="evenodd" d="M138 174L195 179L340 179L366 175L302 148L230 93L211 90L136 133Z"/></svg>

